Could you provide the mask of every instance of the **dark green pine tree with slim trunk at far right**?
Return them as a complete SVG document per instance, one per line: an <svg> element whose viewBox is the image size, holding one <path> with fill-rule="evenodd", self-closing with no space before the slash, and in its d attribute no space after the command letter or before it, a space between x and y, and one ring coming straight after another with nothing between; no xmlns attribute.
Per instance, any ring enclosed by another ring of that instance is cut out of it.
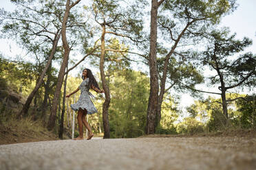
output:
<svg viewBox="0 0 256 170"><path fill-rule="evenodd" d="M211 84L220 83L218 89L221 91L222 111L226 120L228 120L228 102L240 98L226 99L226 91L246 85L255 86L256 82L256 56L252 53L245 53L237 58L234 56L251 45L252 41L248 38L236 40L235 34L231 36L228 34L228 29L213 30L208 34L209 45L202 53L204 64L217 72L209 78Z"/></svg>

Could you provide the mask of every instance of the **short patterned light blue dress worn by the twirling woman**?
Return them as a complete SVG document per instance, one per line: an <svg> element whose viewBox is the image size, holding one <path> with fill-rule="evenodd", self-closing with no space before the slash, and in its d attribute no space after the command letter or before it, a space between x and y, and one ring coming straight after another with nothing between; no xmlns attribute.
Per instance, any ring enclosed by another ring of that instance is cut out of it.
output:
<svg viewBox="0 0 256 170"><path fill-rule="evenodd" d="M90 97L93 97L92 93L89 92L89 78L87 77L79 86L81 95L76 104L70 105L72 110L78 111L79 108L87 110L87 114L93 114L98 112Z"/></svg>

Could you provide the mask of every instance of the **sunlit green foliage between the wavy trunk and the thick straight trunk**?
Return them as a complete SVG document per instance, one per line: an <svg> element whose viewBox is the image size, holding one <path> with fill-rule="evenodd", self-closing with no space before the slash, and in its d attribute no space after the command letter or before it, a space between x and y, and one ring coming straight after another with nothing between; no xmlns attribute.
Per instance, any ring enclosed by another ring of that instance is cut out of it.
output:
<svg viewBox="0 0 256 170"><path fill-rule="evenodd" d="M111 138L131 138L144 134L149 79L140 72L122 70L111 78L109 125Z"/></svg>

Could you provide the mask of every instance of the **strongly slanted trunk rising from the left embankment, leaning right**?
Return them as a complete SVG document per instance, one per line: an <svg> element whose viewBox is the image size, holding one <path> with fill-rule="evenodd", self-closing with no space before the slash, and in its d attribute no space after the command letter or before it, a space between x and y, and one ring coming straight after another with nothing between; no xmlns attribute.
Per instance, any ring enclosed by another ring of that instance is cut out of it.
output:
<svg viewBox="0 0 256 170"><path fill-rule="evenodd" d="M54 41L52 43L52 51L50 53L50 57L47 61L47 64L40 75L39 82L34 87L34 90L32 91L32 93L30 93L30 95L28 96L28 99L25 101L25 104L23 105L21 112L19 112L18 117L28 114L28 109L30 108L31 101L32 101L34 95L36 94L36 92L39 90L41 84L43 83L43 77L45 77L45 73L48 70L50 64L52 63L52 58L54 58L54 54L56 52L58 40L61 36L61 34L59 32L60 32L60 30L58 30L55 34Z"/></svg>

